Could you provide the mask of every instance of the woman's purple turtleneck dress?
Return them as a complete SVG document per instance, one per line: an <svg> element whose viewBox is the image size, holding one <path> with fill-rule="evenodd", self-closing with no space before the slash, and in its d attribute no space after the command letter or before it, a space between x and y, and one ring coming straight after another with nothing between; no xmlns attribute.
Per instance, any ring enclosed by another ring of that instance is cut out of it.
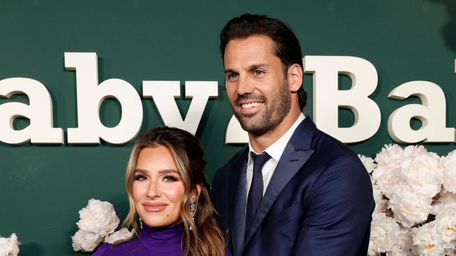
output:
<svg viewBox="0 0 456 256"><path fill-rule="evenodd" d="M143 225L140 232L141 240L135 239L111 247L104 243L92 256L182 256L184 247L181 244L183 234L182 222L165 229L155 229ZM225 248L227 256L232 256Z"/></svg>

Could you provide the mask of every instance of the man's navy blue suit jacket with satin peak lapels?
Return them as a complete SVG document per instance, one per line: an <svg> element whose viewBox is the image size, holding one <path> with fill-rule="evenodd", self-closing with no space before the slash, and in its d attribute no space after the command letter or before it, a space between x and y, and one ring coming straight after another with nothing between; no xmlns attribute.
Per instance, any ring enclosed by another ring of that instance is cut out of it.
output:
<svg viewBox="0 0 456 256"><path fill-rule="evenodd" d="M234 256L366 256L375 202L358 156L306 118L287 143L245 232L246 145L212 180Z"/></svg>

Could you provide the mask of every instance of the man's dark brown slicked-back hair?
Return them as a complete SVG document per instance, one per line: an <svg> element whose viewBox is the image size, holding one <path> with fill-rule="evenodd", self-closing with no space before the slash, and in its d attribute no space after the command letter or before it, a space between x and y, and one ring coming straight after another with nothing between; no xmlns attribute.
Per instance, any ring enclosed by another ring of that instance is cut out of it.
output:
<svg viewBox="0 0 456 256"><path fill-rule="evenodd" d="M253 35L268 36L274 41L274 54L282 61L285 79L288 68L297 63L302 67L301 46L295 33L284 21L269 18L266 15L252 15L249 13L235 17L228 21L220 32L220 52L225 59L225 47L232 39L245 39ZM223 64L224 65L224 64ZM301 87L298 90L299 108L304 109L307 102L307 92Z"/></svg>

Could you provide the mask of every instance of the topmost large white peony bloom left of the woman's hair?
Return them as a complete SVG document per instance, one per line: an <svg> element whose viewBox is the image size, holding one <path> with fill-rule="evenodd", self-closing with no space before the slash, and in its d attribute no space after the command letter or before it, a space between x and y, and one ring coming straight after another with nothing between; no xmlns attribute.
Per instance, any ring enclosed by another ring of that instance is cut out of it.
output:
<svg viewBox="0 0 456 256"><path fill-rule="evenodd" d="M111 203L95 199L88 200L88 205L79 211L79 217L81 220L76 224L80 229L100 236L114 232L120 222Z"/></svg>

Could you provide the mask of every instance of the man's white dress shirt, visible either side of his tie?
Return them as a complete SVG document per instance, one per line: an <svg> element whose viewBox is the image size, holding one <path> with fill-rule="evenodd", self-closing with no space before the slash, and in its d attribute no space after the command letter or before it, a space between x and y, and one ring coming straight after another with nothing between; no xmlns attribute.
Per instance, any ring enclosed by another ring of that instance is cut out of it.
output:
<svg viewBox="0 0 456 256"><path fill-rule="evenodd" d="M272 143L268 148L264 149L263 152L268 153L271 156L271 159L269 159L263 166L263 169L261 169L261 172L263 174L263 195L264 192L266 192L266 188L268 187L269 181L271 180L272 174L274 173L275 167L279 163L280 157L284 153L286 144L290 140L291 136L295 132L296 128L298 125L304 120L305 116L303 113L296 119L295 123L288 129L288 131L282 135L278 140L275 141L275 143ZM254 173L254 159L252 157L253 153L256 154L261 154L255 152L254 148L252 148L252 145L250 144L249 141L249 159L247 159L247 191L246 191L246 197L245 201L247 203L247 197L249 195L249 190L250 190L250 185L252 184L252 176Z"/></svg>

